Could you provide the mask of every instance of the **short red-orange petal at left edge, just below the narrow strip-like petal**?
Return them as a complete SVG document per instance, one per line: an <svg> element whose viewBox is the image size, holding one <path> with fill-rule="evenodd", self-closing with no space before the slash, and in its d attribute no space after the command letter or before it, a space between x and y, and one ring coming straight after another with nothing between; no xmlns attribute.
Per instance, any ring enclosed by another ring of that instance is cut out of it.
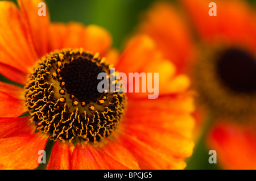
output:
<svg viewBox="0 0 256 181"><path fill-rule="evenodd" d="M26 111L24 100L13 98L0 91L0 117L18 117Z"/></svg>

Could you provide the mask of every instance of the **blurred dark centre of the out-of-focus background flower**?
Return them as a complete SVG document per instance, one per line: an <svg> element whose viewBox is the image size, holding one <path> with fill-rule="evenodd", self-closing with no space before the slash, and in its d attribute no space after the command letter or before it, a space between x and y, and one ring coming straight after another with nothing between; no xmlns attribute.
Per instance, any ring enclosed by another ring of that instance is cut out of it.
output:
<svg viewBox="0 0 256 181"><path fill-rule="evenodd" d="M256 92L256 61L253 55L230 48L220 54L216 69L222 83L229 89L246 94Z"/></svg>

